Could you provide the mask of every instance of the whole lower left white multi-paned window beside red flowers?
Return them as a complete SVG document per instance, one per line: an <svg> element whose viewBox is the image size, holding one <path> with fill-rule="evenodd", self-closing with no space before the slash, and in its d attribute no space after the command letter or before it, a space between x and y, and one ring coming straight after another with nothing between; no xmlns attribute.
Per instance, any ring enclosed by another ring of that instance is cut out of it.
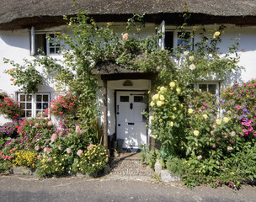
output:
<svg viewBox="0 0 256 202"><path fill-rule="evenodd" d="M50 103L50 93L18 94L21 117L44 116Z"/></svg>

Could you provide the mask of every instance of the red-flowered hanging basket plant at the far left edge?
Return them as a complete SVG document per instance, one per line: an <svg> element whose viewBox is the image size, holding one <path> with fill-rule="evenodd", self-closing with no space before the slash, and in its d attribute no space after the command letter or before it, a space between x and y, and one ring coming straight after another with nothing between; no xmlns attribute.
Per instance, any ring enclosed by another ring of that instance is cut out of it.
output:
<svg viewBox="0 0 256 202"><path fill-rule="evenodd" d="M6 115L11 120L19 119L19 104L13 98L9 98L7 93L0 93L0 114Z"/></svg>

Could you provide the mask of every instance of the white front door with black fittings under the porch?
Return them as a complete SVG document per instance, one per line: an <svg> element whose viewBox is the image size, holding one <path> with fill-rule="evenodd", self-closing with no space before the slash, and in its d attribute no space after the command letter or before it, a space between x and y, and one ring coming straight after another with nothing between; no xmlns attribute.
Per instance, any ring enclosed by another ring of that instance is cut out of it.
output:
<svg viewBox="0 0 256 202"><path fill-rule="evenodd" d="M116 92L116 138L123 139L123 148L139 149L147 144L147 120L141 114L147 109L144 91Z"/></svg>

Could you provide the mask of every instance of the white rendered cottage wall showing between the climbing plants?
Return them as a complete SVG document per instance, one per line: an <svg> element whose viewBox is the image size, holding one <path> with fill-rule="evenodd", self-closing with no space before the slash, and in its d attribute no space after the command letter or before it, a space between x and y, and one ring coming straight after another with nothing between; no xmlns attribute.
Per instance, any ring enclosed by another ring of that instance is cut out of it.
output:
<svg viewBox="0 0 256 202"><path fill-rule="evenodd" d="M205 28L211 33L218 28L219 25L207 25ZM226 82L224 82L224 86L228 84L232 84L233 82L247 82L252 78L256 78L255 64L256 64L256 26L235 26L231 24L226 24L227 28L225 29L225 35L222 36L222 43L220 45L221 52L227 52L228 45L232 44L232 40L234 38L239 38L240 47L240 61L238 63L239 66L243 66L241 72L237 75L232 75ZM146 28L142 29L141 36L154 35L155 27L158 27L157 24L147 24ZM114 24L113 28L118 33L125 32L125 24ZM51 31L53 29L48 29ZM57 31L61 31L63 33L67 33L67 29L65 26L55 28ZM7 69L11 69L12 66L3 63L3 57L13 60L17 63L22 64L23 58L27 58L29 60L34 59L34 56L30 56L30 39L29 39L29 29L21 29L14 31L1 31L0 30L0 89L15 98L16 93L19 92L19 88L11 85L10 78L8 74L3 73ZM200 40L199 38L199 29L196 32L195 42L196 40ZM56 56L61 58L61 56ZM40 71L40 68L38 69ZM147 82L139 82L137 80L134 82L134 87L129 89L149 89L149 84ZM143 84L144 83L144 84ZM145 84L147 83L147 84ZM121 81L111 81L108 82L109 88L109 135L111 135L115 131L115 106L114 104L114 92L115 89L122 87ZM141 86L142 85L142 86ZM54 84L48 83L47 85L40 86L39 90L41 93L51 93L51 98L56 96ZM3 116L0 116L0 125L2 125L7 120L3 119Z"/></svg>

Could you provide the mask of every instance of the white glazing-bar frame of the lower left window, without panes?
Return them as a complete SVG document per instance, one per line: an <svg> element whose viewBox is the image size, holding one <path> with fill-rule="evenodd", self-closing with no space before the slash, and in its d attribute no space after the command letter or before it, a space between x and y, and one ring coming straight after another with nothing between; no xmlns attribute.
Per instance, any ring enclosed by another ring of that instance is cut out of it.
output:
<svg viewBox="0 0 256 202"><path fill-rule="evenodd" d="M20 96L21 95L25 95L25 100L24 101L21 101L21 98ZM27 96L31 95L31 101L27 101ZM45 118L49 118L50 115L48 114L47 116L43 116L42 114L40 116L37 116L37 111L42 111L44 112L45 109L36 109L36 104L39 103L37 100L36 100L36 96L37 95L48 95L48 107L50 107L50 102L51 102L51 93L31 93L31 94L27 94L27 93L17 93L17 101L19 102L19 106L21 106L21 104L24 104L25 105L25 109L21 109L21 110L25 110L25 111L29 111L31 110L31 116L27 116L27 113L25 113L25 116L22 116L21 118L32 118L32 117L45 117ZM43 99L43 98L42 98ZM31 109L27 109L27 104L28 103L31 103ZM41 104L45 104L46 102L44 102L43 100L41 100L40 102ZM47 109L46 108L46 109Z"/></svg>

